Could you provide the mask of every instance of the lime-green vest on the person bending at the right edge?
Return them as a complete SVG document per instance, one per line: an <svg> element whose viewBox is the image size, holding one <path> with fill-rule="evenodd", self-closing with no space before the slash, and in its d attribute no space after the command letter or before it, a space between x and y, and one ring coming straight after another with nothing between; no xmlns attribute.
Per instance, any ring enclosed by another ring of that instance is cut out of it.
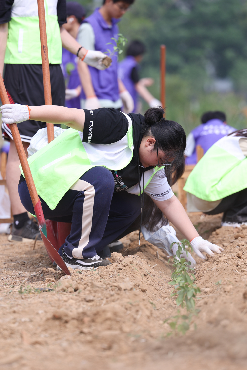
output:
<svg viewBox="0 0 247 370"><path fill-rule="evenodd" d="M233 135L208 149L188 176L185 191L213 202L247 188L247 153L241 148L247 138Z"/></svg>

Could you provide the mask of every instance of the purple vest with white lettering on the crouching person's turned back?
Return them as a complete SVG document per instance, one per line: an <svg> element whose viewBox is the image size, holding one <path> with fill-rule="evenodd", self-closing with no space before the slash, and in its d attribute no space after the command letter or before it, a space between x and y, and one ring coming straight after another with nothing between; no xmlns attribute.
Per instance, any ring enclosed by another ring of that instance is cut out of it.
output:
<svg viewBox="0 0 247 370"><path fill-rule="evenodd" d="M197 145L201 145L205 154L216 141L234 131L236 131L236 128L228 126L217 119L207 121L194 128L191 133L194 136L196 145L193 154L186 158L186 164L196 164Z"/></svg>

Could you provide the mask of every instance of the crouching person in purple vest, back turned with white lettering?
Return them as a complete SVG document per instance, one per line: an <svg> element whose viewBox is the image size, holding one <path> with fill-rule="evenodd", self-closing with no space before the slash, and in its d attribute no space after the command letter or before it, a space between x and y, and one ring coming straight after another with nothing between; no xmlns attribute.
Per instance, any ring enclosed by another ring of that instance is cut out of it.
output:
<svg viewBox="0 0 247 370"><path fill-rule="evenodd" d="M236 128L228 126L226 115L223 112L206 112L201 116L201 125L194 128L187 137L186 164L196 164L196 146L203 148L204 154L208 149L223 136L236 131Z"/></svg>

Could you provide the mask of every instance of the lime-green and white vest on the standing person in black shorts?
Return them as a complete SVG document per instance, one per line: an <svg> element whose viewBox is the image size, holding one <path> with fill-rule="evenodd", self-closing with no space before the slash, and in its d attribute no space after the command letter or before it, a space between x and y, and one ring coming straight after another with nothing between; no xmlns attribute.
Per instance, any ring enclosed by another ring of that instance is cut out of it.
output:
<svg viewBox="0 0 247 370"><path fill-rule="evenodd" d="M62 43L57 0L44 0L50 64L61 64ZM42 64L37 0L14 0L4 63Z"/></svg>

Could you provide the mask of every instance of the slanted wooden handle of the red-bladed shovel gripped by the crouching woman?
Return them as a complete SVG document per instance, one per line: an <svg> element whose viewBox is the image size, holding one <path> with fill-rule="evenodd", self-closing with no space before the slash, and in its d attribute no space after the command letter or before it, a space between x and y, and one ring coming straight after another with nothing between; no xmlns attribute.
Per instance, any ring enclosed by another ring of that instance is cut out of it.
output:
<svg viewBox="0 0 247 370"><path fill-rule="evenodd" d="M0 97L1 97L1 101L3 104L10 104L9 97L7 95L7 91L4 86L4 82L3 82L3 78L1 74L0 74ZM39 197L38 197L38 194L37 194L34 182L33 182L33 176L31 174L29 164L27 162L27 157L26 157L26 153L25 153L22 141L21 141L19 130L17 128L16 123L10 124L9 127L10 127L10 131L11 131L11 134L14 140L14 144L16 146L18 157L21 162L21 167L24 172L24 176L27 182L27 187L29 189L29 193L30 193L30 196L33 202L33 206L35 206L37 202L39 201Z"/></svg>

